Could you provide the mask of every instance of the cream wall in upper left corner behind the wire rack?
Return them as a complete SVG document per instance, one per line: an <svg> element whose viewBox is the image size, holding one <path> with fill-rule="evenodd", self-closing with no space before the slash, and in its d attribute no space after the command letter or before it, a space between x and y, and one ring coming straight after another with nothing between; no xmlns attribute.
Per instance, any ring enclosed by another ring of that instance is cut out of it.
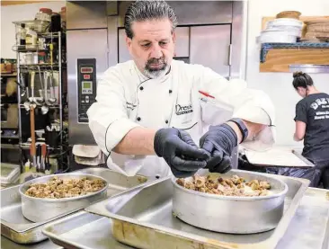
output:
<svg viewBox="0 0 329 249"><path fill-rule="evenodd" d="M1 7L1 58L16 58L13 51L15 44L15 25L13 22L34 20L40 8L49 8L59 12L65 1L36 4L13 4Z"/></svg>

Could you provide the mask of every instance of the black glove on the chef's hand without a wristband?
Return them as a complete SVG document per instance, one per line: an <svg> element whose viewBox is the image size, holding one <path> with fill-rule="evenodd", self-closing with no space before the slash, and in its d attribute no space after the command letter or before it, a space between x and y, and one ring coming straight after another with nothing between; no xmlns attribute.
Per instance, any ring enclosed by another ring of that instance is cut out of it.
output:
<svg viewBox="0 0 329 249"><path fill-rule="evenodd" d="M174 129L156 131L156 155L164 157L175 177L189 177L207 165L209 155L195 145L189 133Z"/></svg>

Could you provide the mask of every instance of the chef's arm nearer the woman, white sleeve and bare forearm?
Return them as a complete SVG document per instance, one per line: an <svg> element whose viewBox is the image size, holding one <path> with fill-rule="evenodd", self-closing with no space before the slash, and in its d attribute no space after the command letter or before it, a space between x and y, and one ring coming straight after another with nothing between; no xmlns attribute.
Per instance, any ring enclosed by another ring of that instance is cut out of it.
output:
<svg viewBox="0 0 329 249"><path fill-rule="evenodd" d="M259 134L266 129L268 136L273 137L271 127L274 125L274 106L266 93L246 87L243 80L227 81L207 67L196 66L194 72L200 75L199 90L209 93L215 97L215 102L226 108L231 108L233 118L244 121L248 129L248 138L245 143L252 144L260 138ZM206 120L206 123L208 120ZM210 119L209 120L213 120ZM241 142L241 132L235 123L227 122L236 131L238 143ZM216 125L216 124L212 124ZM261 136L262 137L262 136ZM260 138L263 139L263 138ZM265 139L268 146L274 142L273 139Z"/></svg>

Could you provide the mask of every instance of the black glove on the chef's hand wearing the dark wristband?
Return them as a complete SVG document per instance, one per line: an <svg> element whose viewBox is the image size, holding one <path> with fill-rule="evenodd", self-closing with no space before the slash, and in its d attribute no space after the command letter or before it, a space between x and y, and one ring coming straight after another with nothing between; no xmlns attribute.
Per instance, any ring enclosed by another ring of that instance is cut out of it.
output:
<svg viewBox="0 0 329 249"><path fill-rule="evenodd" d="M237 145L236 132L227 124L210 126L200 138L200 147L209 152L209 172L227 173L232 169L231 154Z"/></svg>

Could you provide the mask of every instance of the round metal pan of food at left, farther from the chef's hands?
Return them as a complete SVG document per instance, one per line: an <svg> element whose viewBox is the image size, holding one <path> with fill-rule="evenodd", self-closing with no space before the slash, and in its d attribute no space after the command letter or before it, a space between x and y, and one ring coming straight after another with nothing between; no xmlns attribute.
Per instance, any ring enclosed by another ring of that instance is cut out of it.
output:
<svg viewBox="0 0 329 249"><path fill-rule="evenodd" d="M98 179L102 180L105 183L105 186L100 191L95 191L93 193L88 193L78 197L62 199L36 198L25 194L25 191L28 190L31 184L49 182L49 180L54 176L65 180L81 179L83 177L86 177L89 180ZM84 209L93 202L105 198L108 185L108 182L104 178L88 173L58 173L24 182L19 189L22 199L22 215L33 222L40 222L68 214L79 209Z"/></svg>

